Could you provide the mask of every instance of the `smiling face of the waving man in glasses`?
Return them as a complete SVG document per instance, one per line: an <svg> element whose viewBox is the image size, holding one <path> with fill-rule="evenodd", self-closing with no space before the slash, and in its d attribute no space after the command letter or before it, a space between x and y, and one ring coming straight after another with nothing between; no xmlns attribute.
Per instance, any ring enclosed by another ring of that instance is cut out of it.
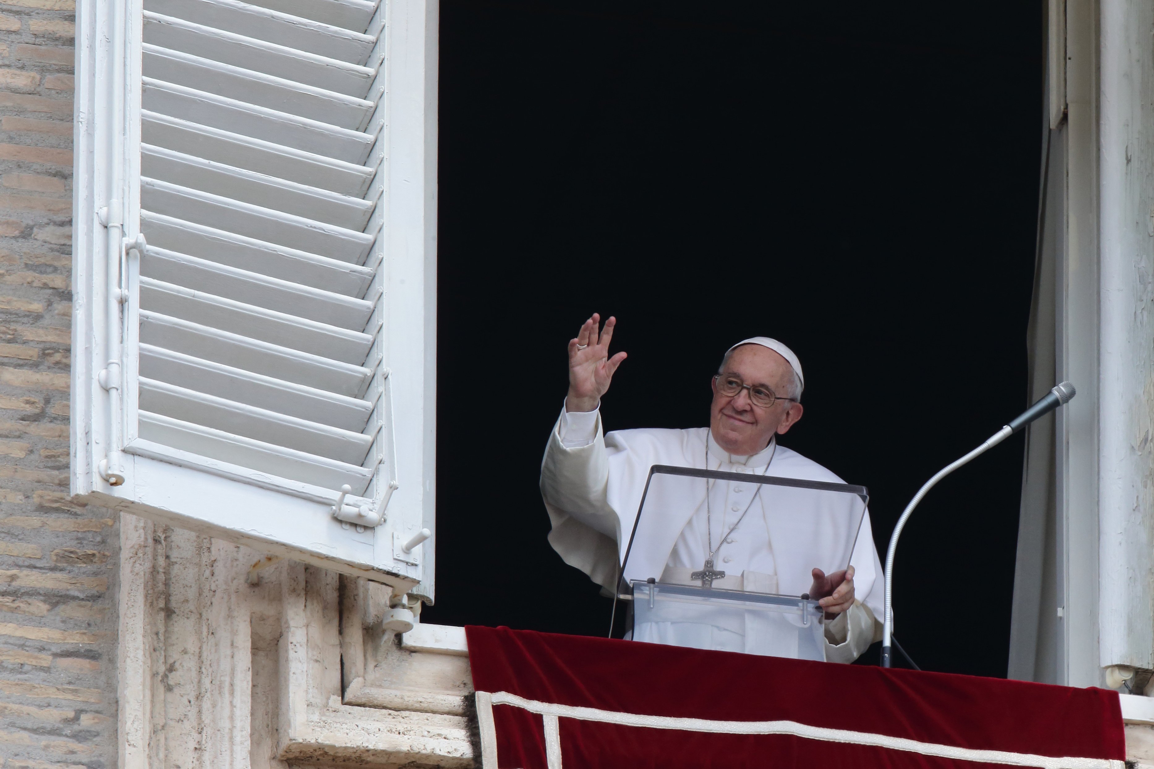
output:
<svg viewBox="0 0 1154 769"><path fill-rule="evenodd" d="M793 394L794 372L785 358L759 344L743 344L729 356L722 375L734 375L745 384L762 386L780 396ZM793 401L778 401L764 409L749 400L749 390L734 396L718 393L713 380L710 431L718 446L729 454L748 456L770 445L774 433L784 435L799 419L802 408Z"/></svg>

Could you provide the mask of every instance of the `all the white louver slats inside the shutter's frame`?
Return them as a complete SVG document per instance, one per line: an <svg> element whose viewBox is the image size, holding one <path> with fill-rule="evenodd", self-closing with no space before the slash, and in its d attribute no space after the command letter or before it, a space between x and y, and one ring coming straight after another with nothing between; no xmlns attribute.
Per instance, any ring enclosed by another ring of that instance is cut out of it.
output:
<svg viewBox="0 0 1154 769"><path fill-rule="evenodd" d="M377 402L367 40L234 0L149 1L143 35L140 436L358 480Z"/></svg>

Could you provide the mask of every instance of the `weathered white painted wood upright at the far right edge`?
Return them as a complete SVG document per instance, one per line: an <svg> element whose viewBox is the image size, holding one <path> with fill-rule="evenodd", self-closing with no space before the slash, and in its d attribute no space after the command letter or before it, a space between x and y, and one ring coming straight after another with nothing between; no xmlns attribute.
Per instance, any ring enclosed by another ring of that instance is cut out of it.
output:
<svg viewBox="0 0 1154 769"><path fill-rule="evenodd" d="M1154 5L1101 0L1099 665L1154 669Z"/></svg>

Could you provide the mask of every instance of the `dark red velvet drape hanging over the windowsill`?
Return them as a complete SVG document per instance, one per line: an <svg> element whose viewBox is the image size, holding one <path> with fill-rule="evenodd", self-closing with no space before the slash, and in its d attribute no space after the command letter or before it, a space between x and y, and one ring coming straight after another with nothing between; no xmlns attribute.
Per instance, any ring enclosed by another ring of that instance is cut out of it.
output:
<svg viewBox="0 0 1154 769"><path fill-rule="evenodd" d="M1056 757L1125 757L1118 697L1001 679L466 628L478 692L615 712L788 721L923 744ZM493 708L501 769L547 769L542 718ZM717 734L560 718L565 769L735 769L980 763L790 734Z"/></svg>

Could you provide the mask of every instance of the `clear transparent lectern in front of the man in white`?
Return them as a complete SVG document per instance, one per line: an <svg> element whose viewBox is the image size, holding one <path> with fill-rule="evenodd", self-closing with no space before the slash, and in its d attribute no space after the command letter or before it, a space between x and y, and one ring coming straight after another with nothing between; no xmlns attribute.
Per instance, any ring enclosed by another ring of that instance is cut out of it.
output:
<svg viewBox="0 0 1154 769"><path fill-rule="evenodd" d="M617 587L631 637L824 659L812 569L849 566L868 501L864 486L653 465Z"/></svg>

